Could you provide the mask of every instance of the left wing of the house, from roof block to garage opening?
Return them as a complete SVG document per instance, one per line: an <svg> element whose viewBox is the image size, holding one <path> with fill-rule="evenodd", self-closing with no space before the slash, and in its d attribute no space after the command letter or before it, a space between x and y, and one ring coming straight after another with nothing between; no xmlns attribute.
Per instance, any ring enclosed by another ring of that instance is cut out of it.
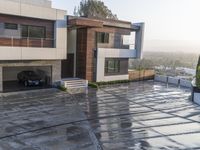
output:
<svg viewBox="0 0 200 150"><path fill-rule="evenodd" d="M66 13L48 0L0 0L0 91L23 70L40 73L49 85L61 80Z"/></svg>

